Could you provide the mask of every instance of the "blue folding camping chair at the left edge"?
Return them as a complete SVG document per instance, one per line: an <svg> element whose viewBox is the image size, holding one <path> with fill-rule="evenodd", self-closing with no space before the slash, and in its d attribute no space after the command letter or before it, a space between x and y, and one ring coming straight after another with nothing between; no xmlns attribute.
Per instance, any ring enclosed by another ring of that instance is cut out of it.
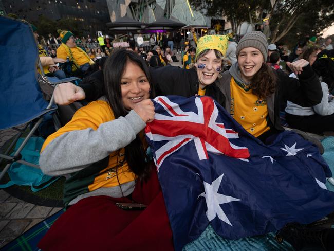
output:
<svg viewBox="0 0 334 251"><path fill-rule="evenodd" d="M60 122L54 113L57 106L53 102L53 96L50 102L47 102L43 99L39 86L36 68L36 64L40 61L39 51L30 24L0 16L0 27L2 27L0 32L0 69L2 71L0 74L0 130L12 128L18 132L4 154L0 154L0 163L3 159L7 162L0 173L1 180L14 162L40 168L38 165L21 160L20 152L46 115L52 114L56 129L60 128ZM41 68L40 62L39 65ZM76 79L67 78L57 82L49 81L49 83L54 85ZM21 125L24 125L23 128L17 128ZM32 128L20 147L14 154L8 155L29 126Z"/></svg>

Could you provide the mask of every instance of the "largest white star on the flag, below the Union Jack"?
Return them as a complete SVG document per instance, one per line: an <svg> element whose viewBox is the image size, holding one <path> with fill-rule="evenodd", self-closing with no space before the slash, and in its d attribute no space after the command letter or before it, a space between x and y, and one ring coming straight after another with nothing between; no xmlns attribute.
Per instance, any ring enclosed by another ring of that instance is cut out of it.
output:
<svg viewBox="0 0 334 251"><path fill-rule="evenodd" d="M224 176L224 173L221 174L218 178L216 178L216 180L214 180L211 185L206 182L203 182L205 192L202 192L201 194L199 194L198 198L199 196L203 196L206 199L206 203L208 207L208 211L206 212L206 214L207 214L209 221L212 221L216 216L218 216L220 220L232 226L225 212L221 209L219 205L229 203L232 201L241 201L241 200L231 197L231 196L226 196L224 194L218 193L218 189L219 189L219 186L222 180L222 176Z"/></svg>

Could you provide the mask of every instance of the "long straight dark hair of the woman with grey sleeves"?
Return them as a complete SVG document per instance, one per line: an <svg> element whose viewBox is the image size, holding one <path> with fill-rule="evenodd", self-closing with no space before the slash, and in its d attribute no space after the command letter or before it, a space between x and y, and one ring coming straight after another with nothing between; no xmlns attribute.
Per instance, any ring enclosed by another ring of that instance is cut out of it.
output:
<svg viewBox="0 0 334 251"><path fill-rule="evenodd" d="M106 97L115 119L121 116L124 117L129 113L124 107L121 94L121 78L125 71L126 63L129 61L138 65L144 71L151 87L150 98L153 98L155 95L151 84L150 71L143 59L133 51L125 49L117 50L113 55L108 57L103 68ZM129 169L141 180L145 180L150 174L150 166L149 163L146 162L146 159L146 151L137 134L136 139L125 147L125 160L128 163Z"/></svg>

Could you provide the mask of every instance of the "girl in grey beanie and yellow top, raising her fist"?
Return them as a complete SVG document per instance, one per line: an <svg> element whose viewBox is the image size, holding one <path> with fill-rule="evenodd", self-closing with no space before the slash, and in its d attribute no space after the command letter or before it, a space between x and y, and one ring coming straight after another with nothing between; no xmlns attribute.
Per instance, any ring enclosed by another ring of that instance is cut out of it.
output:
<svg viewBox="0 0 334 251"><path fill-rule="evenodd" d="M220 90L225 109L250 134L269 143L284 129L280 125L280 102L294 100L301 106L318 104L322 91L319 79L306 60L289 64L299 80L283 71L274 72L267 64L265 35L253 31L244 35L236 48L237 62L222 73Z"/></svg>

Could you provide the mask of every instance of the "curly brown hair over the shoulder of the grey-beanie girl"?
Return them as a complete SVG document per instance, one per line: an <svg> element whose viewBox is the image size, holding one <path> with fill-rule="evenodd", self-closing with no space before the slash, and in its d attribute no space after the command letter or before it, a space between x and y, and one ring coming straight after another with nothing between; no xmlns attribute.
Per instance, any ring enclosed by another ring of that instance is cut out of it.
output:
<svg viewBox="0 0 334 251"><path fill-rule="evenodd" d="M259 98L266 98L275 92L276 75L270 66L263 63L251 80L252 93Z"/></svg>

